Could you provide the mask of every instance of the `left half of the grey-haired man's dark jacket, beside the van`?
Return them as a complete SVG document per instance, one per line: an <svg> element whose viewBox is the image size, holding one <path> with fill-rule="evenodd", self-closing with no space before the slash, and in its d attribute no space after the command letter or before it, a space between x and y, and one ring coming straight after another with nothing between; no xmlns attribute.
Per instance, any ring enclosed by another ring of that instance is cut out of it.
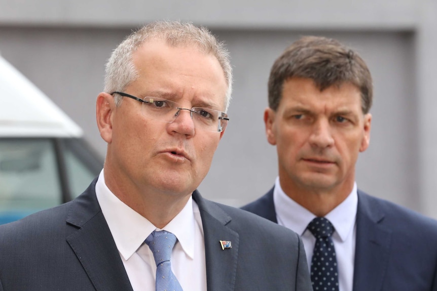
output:
<svg viewBox="0 0 437 291"><path fill-rule="evenodd" d="M0 226L0 290L132 290L95 196Z"/></svg>

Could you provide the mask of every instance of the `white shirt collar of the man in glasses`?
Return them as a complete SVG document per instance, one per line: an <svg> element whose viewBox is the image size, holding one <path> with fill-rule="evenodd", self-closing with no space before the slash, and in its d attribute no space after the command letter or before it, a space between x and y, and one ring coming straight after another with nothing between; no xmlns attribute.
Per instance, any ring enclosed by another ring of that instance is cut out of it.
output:
<svg viewBox="0 0 437 291"><path fill-rule="evenodd" d="M117 249L125 260L138 250L154 230L160 230L111 192L105 184L103 170L96 183L96 196ZM163 228L176 236L184 252L192 259L195 237L193 203L190 197L183 210Z"/></svg>

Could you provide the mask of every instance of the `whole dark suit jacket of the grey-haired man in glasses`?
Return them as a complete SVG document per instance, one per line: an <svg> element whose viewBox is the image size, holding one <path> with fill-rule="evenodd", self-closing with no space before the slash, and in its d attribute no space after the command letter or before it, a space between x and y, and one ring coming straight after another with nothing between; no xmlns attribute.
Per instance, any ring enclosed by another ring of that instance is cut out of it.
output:
<svg viewBox="0 0 437 291"><path fill-rule="evenodd" d="M0 291L132 290L95 195L0 226ZM203 199L209 291L311 291L300 237L248 212ZM222 250L220 240L232 248ZM187 290L189 291L189 290Z"/></svg>

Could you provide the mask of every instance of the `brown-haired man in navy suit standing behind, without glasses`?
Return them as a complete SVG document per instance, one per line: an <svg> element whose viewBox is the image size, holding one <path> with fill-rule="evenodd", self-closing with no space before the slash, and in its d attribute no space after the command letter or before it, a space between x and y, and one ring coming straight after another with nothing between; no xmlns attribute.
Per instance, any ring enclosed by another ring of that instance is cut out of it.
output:
<svg viewBox="0 0 437 291"><path fill-rule="evenodd" d="M243 209L302 235L314 290L437 290L437 224L357 189L370 143L366 63L335 39L306 36L277 58L265 110L274 187Z"/></svg>

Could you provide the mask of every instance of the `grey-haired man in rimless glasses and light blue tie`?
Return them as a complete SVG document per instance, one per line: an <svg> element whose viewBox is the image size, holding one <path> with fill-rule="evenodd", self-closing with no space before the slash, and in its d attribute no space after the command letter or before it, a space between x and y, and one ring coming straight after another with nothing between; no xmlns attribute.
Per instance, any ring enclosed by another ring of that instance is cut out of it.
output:
<svg viewBox="0 0 437 291"><path fill-rule="evenodd" d="M231 91L205 28L154 22L126 38L97 97L104 168L74 201L0 227L0 290L310 291L296 233L196 191Z"/></svg>

